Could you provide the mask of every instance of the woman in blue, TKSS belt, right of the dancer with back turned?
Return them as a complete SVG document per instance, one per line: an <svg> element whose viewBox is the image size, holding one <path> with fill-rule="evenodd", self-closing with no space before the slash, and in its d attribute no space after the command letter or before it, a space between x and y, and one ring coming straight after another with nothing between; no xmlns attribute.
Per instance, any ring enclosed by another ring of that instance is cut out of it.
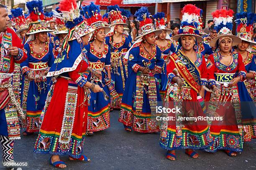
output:
<svg viewBox="0 0 256 170"><path fill-rule="evenodd" d="M90 5L84 6L83 10L88 25L95 29L91 42L85 47L89 52L87 56L89 67L93 71L86 72L85 76L89 82L100 85L110 96L110 90L112 92L115 90L111 84L110 47L105 43L105 35L110 31L110 28L102 23L100 5L91 2ZM109 104L110 99L105 100L102 93L91 93L90 106L88 107L88 135L110 127Z"/></svg>

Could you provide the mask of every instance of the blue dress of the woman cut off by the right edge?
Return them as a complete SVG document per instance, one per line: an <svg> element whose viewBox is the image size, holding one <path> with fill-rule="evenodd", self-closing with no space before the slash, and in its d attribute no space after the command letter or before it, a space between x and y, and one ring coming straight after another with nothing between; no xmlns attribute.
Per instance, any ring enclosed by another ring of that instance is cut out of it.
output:
<svg viewBox="0 0 256 170"><path fill-rule="evenodd" d="M256 75L256 59L253 53L249 53L243 63L247 72ZM251 141L252 137L256 136L256 106L253 102L253 95L250 90L249 79L238 82L238 92L241 101L241 115L243 122L244 141Z"/></svg>

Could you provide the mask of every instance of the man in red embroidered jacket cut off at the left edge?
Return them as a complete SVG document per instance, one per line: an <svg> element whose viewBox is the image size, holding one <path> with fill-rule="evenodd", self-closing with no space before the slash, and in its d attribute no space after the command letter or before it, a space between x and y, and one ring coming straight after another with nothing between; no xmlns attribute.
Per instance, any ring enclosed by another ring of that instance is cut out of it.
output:
<svg viewBox="0 0 256 170"><path fill-rule="evenodd" d="M14 163L14 140L20 139L20 128L24 127L26 116L16 100L12 88L12 72L15 63L26 60L22 41L15 32L6 27L10 18L6 6L0 4L0 145L3 163ZM19 120L23 120L20 124Z"/></svg>

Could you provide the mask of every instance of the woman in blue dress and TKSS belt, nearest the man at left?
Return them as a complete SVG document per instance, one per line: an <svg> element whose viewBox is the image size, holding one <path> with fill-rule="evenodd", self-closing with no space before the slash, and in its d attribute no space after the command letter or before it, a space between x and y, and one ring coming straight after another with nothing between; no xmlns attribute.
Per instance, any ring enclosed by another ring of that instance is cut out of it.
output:
<svg viewBox="0 0 256 170"><path fill-rule="evenodd" d="M28 27L28 38L24 45L28 57L20 64L23 75L21 106L27 115L27 130L23 132L24 136L39 131L38 120L50 87L46 74L54 63L52 46L47 42L47 32L51 30L46 28L44 22L43 3L41 0L33 0L27 2L26 6L33 22Z"/></svg>

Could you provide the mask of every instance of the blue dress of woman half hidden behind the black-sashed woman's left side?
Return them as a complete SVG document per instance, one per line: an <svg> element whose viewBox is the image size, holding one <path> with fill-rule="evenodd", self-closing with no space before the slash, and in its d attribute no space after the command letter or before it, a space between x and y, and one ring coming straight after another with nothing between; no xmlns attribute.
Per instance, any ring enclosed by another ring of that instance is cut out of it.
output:
<svg viewBox="0 0 256 170"><path fill-rule="evenodd" d="M171 40L167 41L167 45L162 47L158 45L159 49L161 50L162 59L164 59L164 65L162 68L161 74L157 74L157 82L159 83L159 89L162 100L164 100L165 90L167 87L168 77L166 75L166 65L169 63L169 55L176 51L173 43Z"/></svg>

